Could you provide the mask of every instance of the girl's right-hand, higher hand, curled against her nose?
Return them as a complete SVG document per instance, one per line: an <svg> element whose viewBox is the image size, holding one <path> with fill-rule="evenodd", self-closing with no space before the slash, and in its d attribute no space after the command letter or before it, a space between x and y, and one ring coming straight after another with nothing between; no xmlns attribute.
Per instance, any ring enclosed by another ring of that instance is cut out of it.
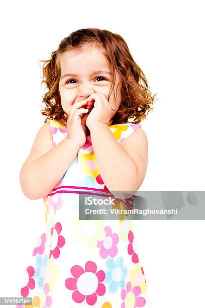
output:
<svg viewBox="0 0 205 308"><path fill-rule="evenodd" d="M109 125L112 108L104 94L95 92L85 102L87 102L87 108L91 110L86 117L86 125L89 130L97 124Z"/></svg>

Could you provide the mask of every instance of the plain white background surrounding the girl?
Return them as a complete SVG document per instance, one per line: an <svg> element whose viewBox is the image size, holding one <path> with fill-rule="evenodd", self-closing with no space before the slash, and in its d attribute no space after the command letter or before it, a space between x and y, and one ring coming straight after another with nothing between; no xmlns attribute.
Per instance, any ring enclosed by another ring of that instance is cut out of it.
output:
<svg viewBox="0 0 205 308"><path fill-rule="evenodd" d="M1 5L0 296L19 296L44 225L42 200L19 172L45 117L41 68L72 31L96 27L126 40L158 101L141 122L149 142L142 190L204 190L202 1L7 1ZM153 308L204 307L204 220L138 221Z"/></svg>

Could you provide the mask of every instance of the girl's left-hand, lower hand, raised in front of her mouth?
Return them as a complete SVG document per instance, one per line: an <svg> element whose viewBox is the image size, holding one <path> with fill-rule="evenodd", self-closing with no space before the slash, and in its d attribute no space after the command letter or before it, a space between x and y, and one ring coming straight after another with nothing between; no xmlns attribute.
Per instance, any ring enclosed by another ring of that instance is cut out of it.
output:
<svg viewBox="0 0 205 308"><path fill-rule="evenodd" d="M70 108L70 114L67 119L67 138L77 144L79 148L86 142L86 119L82 121L83 117L87 118L86 113L88 113L88 109L83 108L86 105L87 102L85 101L74 103Z"/></svg>

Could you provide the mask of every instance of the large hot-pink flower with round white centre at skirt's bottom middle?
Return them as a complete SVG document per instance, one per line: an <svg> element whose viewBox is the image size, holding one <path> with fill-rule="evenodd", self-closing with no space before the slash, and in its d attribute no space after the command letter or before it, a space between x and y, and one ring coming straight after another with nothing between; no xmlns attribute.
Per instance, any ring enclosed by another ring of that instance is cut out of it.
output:
<svg viewBox="0 0 205 308"><path fill-rule="evenodd" d="M86 262L85 270L79 265L71 267L70 272L74 278L67 278L65 286L69 290L74 290L72 299L75 302L81 303L86 298L88 305L94 305L97 295L102 296L106 293L106 287L101 283L105 279L105 272L96 270L97 265L92 261Z"/></svg>

